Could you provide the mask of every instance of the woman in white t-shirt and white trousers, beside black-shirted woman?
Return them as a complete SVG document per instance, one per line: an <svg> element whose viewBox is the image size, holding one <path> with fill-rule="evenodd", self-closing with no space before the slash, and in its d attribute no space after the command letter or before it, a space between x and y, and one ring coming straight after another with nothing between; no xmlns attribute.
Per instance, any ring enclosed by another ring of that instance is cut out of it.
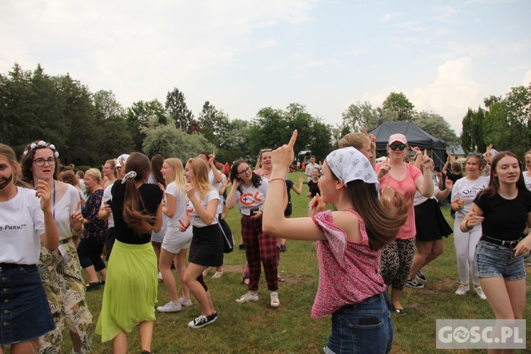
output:
<svg viewBox="0 0 531 354"><path fill-rule="evenodd" d="M459 273L459 287L455 295L466 295L470 290L469 275L472 275L474 290L480 299L486 299L486 295L479 284L474 266L474 251L476 244L481 238L481 224L478 224L464 232L459 224L467 216L472 207L472 202L480 190L489 185L489 177L482 176L486 161L483 154L472 153L466 161L467 176L460 178L452 187L452 199L450 207L455 211L454 222L454 245L457 258L457 272Z"/></svg>

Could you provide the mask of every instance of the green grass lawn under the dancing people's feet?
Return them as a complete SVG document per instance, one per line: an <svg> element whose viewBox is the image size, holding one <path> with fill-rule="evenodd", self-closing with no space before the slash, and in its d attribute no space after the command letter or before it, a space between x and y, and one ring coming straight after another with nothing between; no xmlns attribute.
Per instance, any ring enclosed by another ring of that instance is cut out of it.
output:
<svg viewBox="0 0 531 354"><path fill-rule="evenodd" d="M290 173L297 182L302 173ZM292 193L294 216L307 215L307 186L302 195ZM443 213L451 221L448 207ZM237 208L229 211L227 221L239 244L240 224ZM308 241L287 241L287 252L282 253L279 273L286 282L279 283L280 307L269 307L269 292L261 281L259 302L236 304L235 299L246 292L241 285L241 270L245 263L244 251L234 250L225 256L224 275L220 279L207 277L212 299L219 313L215 324L204 329L189 329L188 321L200 314L193 307L173 314L157 314L154 324L152 350L154 353L322 353L330 333L330 319L311 319L310 309L316 293L318 269L315 245ZM487 302L473 291L464 297L454 292L458 285L453 235L445 239L445 253L430 263L424 273L428 278L421 290L404 290L402 304L408 314L393 314L394 343L392 353L435 353L436 319L491 319L493 313ZM212 273L211 273L212 274ZM88 293L88 303L94 324L101 308L103 290ZM131 295L135 296L135 295ZM531 287L527 287L527 298ZM163 283L159 283L159 305L169 301ZM531 312L527 301L524 317ZM531 326L527 327L527 348L531 348ZM64 332L64 353L71 352L67 331ZM111 353L111 343L101 343L94 334L93 353ZM130 353L139 353L139 336L129 336ZM522 351L523 353L524 351ZM459 353L459 351L450 353ZM464 353L464 351L463 351ZM478 351L479 353L479 351Z"/></svg>

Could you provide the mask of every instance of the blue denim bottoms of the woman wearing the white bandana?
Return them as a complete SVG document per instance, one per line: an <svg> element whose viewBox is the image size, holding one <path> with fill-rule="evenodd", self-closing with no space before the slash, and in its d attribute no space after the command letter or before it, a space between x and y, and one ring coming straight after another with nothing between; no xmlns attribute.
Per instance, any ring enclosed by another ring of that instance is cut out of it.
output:
<svg viewBox="0 0 531 354"><path fill-rule="evenodd" d="M332 333L324 353L389 353L393 322L382 294L332 314Z"/></svg>

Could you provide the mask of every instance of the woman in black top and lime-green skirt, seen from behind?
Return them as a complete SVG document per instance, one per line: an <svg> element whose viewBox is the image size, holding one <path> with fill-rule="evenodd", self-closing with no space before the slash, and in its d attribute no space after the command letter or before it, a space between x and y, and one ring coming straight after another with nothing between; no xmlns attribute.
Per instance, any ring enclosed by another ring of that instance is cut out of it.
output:
<svg viewBox="0 0 531 354"><path fill-rule="evenodd" d="M138 326L142 353L151 353L158 282L152 231L162 227L162 190L149 184L150 163L134 152L125 164L125 176L112 187L112 199L100 215L112 212L116 229L109 258L101 313L96 333L113 341L113 353L127 353L127 333Z"/></svg>

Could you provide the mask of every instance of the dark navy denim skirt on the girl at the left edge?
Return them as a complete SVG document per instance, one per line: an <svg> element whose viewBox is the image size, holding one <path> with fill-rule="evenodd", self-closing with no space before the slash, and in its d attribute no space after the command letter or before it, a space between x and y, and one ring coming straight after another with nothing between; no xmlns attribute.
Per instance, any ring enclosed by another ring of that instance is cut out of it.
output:
<svg viewBox="0 0 531 354"><path fill-rule="evenodd" d="M53 329L37 265L0 270L0 346L31 341Z"/></svg>

